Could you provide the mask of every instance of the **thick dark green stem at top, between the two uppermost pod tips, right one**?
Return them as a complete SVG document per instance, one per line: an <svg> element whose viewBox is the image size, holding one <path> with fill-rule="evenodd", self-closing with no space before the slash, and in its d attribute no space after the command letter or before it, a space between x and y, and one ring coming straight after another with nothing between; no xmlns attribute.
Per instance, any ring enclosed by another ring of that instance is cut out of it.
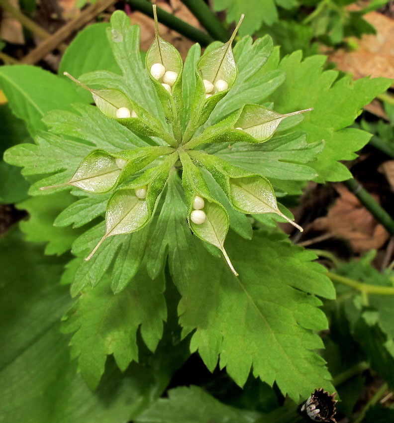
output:
<svg viewBox="0 0 394 423"><path fill-rule="evenodd" d="M228 41L229 34L223 27L215 13L203 0L181 0L186 7L197 17L198 22L215 40Z"/></svg>

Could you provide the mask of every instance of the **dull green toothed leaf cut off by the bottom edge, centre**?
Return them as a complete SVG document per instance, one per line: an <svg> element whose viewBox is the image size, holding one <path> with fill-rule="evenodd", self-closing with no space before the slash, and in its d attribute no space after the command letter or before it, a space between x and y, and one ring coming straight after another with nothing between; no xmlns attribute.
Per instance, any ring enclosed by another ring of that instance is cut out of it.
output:
<svg viewBox="0 0 394 423"><path fill-rule="evenodd" d="M259 413L239 410L222 404L201 388L191 385L168 392L141 413L136 423L252 423Z"/></svg>

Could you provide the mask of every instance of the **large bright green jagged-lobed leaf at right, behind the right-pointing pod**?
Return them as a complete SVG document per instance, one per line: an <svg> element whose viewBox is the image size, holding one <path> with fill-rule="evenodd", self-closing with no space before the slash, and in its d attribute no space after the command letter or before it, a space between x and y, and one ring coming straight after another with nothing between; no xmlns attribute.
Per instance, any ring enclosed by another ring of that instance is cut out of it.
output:
<svg viewBox="0 0 394 423"><path fill-rule="evenodd" d="M344 77L336 81L337 72L322 71L325 60L324 56L312 56L301 62L301 53L296 52L280 63L272 63L274 69L286 72L286 80L268 99L281 113L313 107L297 129L307 134L308 143L324 140L324 149L312 165L319 175L318 182L351 177L338 160L354 159L354 151L362 148L370 135L346 126L353 123L361 107L391 84L384 78L352 82Z"/></svg>

